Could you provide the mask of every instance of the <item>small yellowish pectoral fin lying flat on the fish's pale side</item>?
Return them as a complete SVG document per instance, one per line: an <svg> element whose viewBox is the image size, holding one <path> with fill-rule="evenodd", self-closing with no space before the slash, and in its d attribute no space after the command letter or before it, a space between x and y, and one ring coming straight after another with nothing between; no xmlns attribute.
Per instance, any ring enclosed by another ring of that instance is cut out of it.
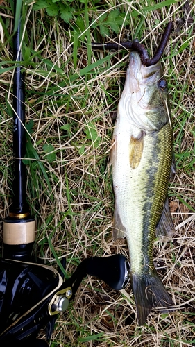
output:
<svg viewBox="0 0 195 347"><path fill-rule="evenodd" d="M142 152L144 149L144 136L141 135L139 139L135 137L130 137L130 148L129 148L129 162L132 169L138 167L139 162L142 158Z"/></svg>

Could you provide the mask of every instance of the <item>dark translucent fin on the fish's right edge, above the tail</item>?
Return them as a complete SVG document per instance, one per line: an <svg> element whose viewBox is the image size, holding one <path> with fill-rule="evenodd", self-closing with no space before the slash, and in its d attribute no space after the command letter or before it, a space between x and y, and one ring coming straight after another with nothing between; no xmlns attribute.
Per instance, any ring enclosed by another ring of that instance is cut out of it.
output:
<svg viewBox="0 0 195 347"><path fill-rule="evenodd" d="M173 221L171 218L171 212L169 209L169 200L168 198L164 204L164 210L162 211L162 215L160 217L160 221L156 227L156 235L172 237L176 232Z"/></svg>

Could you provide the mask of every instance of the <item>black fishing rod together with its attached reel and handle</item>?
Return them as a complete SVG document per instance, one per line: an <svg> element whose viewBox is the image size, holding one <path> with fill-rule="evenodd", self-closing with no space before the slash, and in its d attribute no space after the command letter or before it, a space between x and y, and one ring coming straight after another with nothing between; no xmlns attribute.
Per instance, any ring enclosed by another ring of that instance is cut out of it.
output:
<svg viewBox="0 0 195 347"><path fill-rule="evenodd" d="M13 186L12 206L3 221L3 258L0 259L0 343L1 346L45 347L37 339L46 327L46 339L53 332L56 315L67 310L85 276L95 276L120 290L129 281L130 265L124 255L89 257L81 262L72 276L65 280L64 272L46 266L33 257L36 223L26 202L25 92L21 52L22 1L14 1L15 33L13 37ZM17 16L16 13L20 13ZM66 261L62 262L65 270Z"/></svg>

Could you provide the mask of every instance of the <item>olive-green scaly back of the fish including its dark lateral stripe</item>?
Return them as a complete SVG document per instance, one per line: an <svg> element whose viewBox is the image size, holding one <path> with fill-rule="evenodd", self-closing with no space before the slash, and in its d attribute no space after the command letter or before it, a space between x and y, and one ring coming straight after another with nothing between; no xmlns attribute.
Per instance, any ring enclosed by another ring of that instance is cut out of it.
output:
<svg viewBox="0 0 195 347"><path fill-rule="evenodd" d="M162 155L162 146L164 147L164 155ZM153 164L146 169L149 179L146 189L147 199L143 207L142 253L144 255L143 262L153 268L153 243L151 239L155 237L155 228L167 198L169 167L172 161L172 130L168 123L158 133L153 133L153 151L150 153L150 158ZM166 158L167 165L164 165L164 158ZM156 176L155 180L152 179L154 176ZM167 185L164 182L167 182ZM162 201L162 204L159 201ZM151 211L151 213L149 214L148 211Z"/></svg>

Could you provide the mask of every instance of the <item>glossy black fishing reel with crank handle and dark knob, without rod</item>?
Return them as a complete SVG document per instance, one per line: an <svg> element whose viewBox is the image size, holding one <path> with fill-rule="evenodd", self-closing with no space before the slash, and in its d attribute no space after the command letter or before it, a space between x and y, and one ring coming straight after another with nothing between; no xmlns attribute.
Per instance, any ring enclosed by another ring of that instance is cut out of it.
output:
<svg viewBox="0 0 195 347"><path fill-rule="evenodd" d="M62 262L65 269L65 260ZM1 346L47 346L36 339L46 326L51 337L56 314L64 312L85 276L96 276L112 289L126 287L129 263L124 255L90 257L81 262L74 274L64 281L60 269L42 263L0 260L0 343Z"/></svg>

